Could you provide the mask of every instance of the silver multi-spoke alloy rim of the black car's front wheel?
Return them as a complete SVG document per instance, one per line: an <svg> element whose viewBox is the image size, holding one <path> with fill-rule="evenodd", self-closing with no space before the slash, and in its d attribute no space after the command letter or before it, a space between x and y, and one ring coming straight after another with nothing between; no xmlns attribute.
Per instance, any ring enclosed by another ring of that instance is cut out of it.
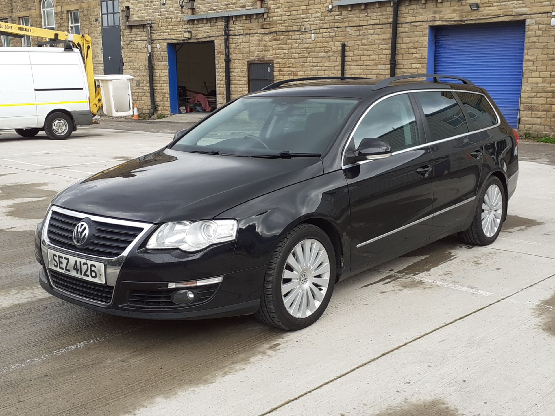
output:
<svg viewBox="0 0 555 416"><path fill-rule="evenodd" d="M281 299L287 312L306 318L320 307L330 282L330 258L320 241L306 239L287 256L281 275Z"/></svg>

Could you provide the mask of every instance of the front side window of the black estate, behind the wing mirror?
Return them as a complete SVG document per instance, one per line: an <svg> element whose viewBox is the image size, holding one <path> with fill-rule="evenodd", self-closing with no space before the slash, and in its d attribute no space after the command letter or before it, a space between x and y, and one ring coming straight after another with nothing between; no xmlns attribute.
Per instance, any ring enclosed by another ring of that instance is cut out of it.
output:
<svg viewBox="0 0 555 416"><path fill-rule="evenodd" d="M387 141L392 151L420 144L415 114L406 94L386 98L366 113L355 131L355 149L367 137Z"/></svg>

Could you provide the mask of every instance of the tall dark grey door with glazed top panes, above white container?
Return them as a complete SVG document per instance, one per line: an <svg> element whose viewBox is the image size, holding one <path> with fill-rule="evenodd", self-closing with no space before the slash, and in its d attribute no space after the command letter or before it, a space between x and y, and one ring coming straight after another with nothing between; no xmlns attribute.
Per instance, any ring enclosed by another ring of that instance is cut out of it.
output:
<svg viewBox="0 0 555 416"><path fill-rule="evenodd" d="M119 0L100 0L104 74L123 74Z"/></svg>

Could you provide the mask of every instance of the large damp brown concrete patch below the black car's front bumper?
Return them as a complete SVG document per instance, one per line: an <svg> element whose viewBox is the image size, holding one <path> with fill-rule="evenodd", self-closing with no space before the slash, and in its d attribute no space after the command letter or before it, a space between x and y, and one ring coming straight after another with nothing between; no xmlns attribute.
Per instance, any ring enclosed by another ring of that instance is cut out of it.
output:
<svg viewBox="0 0 555 416"><path fill-rule="evenodd" d="M215 383L226 374L241 371L253 358L279 354L280 339L285 336L251 317L152 322L107 317L65 302L56 302L54 310L48 308L44 314L51 320L56 316L49 339L57 333L68 346L102 338L106 321L120 328L137 328L4 374L3 409L7 414L18 414L20 403L27 412L40 414L134 412L149 407L156 398ZM86 335L75 338L74 331L64 331L76 321L89 328ZM35 342L32 349L36 348ZM44 353L34 351L37 357ZM56 386L56 394L36 394L52 386Z"/></svg>

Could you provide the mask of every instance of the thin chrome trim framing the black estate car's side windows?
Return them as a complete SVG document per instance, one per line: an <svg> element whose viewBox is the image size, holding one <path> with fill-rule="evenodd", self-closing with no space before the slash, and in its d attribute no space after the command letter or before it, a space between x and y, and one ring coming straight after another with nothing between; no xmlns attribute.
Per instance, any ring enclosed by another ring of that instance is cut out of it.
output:
<svg viewBox="0 0 555 416"><path fill-rule="evenodd" d="M347 148L349 147L349 144L351 143L351 140L354 138L356 130L359 128L359 125L360 125L360 123L362 123L362 120L365 118L366 114L368 114L368 112L372 108L374 108L374 106L376 104L382 102L383 100L385 100L387 98L394 97L395 95L409 94L409 93L426 93L426 92L433 92L433 91L448 91L448 92L456 92L456 93L470 93L470 94L482 95L483 97L486 98L488 104L490 104L490 106L493 110L493 113L495 113L495 116L497 118L497 123L495 125L492 125L490 127L486 127L486 128L483 128L483 129L472 130L472 131L468 131L468 133L458 134L456 136L447 137L445 139L431 141L430 143L422 143L422 144L419 144L417 146L412 146L412 148L397 150L397 151L394 151L391 154L392 156L400 154L400 153L405 153L406 151L417 150L417 149L425 148L426 146L432 146L432 145L435 145L435 144L438 144L438 143L442 143L443 141L458 139L460 137L468 136L470 134L480 133L480 131L486 131L486 130L493 129L493 128L496 128L496 127L501 125L501 118L499 117L499 114L497 113L497 111L496 111L495 107L493 106L493 104L491 103L490 99L487 98L486 95L483 94L483 93L478 93L478 92L475 92L475 91L468 91L468 90L453 89L453 88L412 89L412 90L407 90L407 91L398 91L396 93L391 93L391 94L388 94L388 95L384 95L384 97L381 97L381 98L377 99L374 103L370 104L370 106L364 111L364 113L362 113L362 115L359 118L359 121L356 122L355 128L352 130L352 133L350 134L349 139L347 139L345 145L343 146L343 151L341 153L341 169L350 168L351 166L361 165L363 163L367 163L367 162L372 161L372 160L362 160L360 162L355 162L355 163L351 163L351 164L348 164L348 165L343 164L344 161L345 161L345 155L347 153ZM416 117L416 114L415 114L415 117ZM426 138L424 138L424 139L426 139Z"/></svg>

